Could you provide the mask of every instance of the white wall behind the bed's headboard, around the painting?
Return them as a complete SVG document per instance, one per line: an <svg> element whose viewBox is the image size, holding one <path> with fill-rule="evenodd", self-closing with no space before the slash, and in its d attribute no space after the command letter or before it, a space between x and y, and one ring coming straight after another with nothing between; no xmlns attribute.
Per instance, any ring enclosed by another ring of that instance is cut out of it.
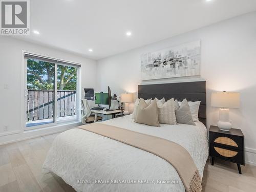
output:
<svg viewBox="0 0 256 192"><path fill-rule="evenodd" d="M210 106L213 91L238 91L241 108L230 110L234 128L245 135L246 161L256 165L256 12L168 38L98 61L98 91L137 92L138 84L207 81L207 124L216 125L218 109ZM161 29L160 29L161 30ZM136 35L136 31L134 31ZM140 55L201 39L201 77L141 81ZM132 109L131 109L132 110Z"/></svg>

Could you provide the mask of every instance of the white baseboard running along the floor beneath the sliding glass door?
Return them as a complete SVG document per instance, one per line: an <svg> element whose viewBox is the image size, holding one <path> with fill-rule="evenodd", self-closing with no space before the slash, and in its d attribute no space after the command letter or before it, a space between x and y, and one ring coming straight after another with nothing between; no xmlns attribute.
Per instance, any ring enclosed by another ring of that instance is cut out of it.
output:
<svg viewBox="0 0 256 192"><path fill-rule="evenodd" d="M47 127L47 129L44 128L44 129L38 129L38 130L25 131L23 133L5 135L0 138L0 145L23 141L23 140L41 137L41 136L45 136L45 135L60 133L60 132L67 131L67 130L69 130L73 127L79 126L79 125L81 125L81 123L78 123L78 122L69 123L69 124L61 124L61 125L56 125L53 127Z"/></svg>

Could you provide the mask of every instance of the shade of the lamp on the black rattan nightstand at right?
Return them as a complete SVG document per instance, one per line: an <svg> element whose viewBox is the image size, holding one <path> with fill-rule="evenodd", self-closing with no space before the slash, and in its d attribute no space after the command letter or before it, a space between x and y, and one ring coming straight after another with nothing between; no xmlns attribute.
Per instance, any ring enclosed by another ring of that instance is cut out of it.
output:
<svg viewBox="0 0 256 192"><path fill-rule="evenodd" d="M225 91L212 93L211 106L216 106L219 108L239 108L240 93Z"/></svg>

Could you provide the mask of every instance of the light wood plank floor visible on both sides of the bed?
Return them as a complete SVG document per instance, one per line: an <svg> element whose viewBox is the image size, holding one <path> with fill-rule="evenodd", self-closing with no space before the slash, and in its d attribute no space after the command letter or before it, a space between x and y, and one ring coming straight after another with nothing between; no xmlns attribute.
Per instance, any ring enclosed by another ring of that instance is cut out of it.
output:
<svg viewBox="0 0 256 192"><path fill-rule="evenodd" d="M41 174L46 154L58 134L0 145L0 191L75 191L54 174ZM216 159L204 168L203 191L256 191L256 166L241 166Z"/></svg>

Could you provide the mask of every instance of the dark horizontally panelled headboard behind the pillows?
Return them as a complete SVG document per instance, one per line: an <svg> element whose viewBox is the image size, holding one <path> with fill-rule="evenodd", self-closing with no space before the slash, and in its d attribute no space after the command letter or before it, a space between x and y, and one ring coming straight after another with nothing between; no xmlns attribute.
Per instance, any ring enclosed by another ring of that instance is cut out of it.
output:
<svg viewBox="0 0 256 192"><path fill-rule="evenodd" d="M144 84L138 86L138 98L165 100L177 99L182 101L201 101L199 107L199 121L206 126L206 81L177 82L165 84Z"/></svg>

